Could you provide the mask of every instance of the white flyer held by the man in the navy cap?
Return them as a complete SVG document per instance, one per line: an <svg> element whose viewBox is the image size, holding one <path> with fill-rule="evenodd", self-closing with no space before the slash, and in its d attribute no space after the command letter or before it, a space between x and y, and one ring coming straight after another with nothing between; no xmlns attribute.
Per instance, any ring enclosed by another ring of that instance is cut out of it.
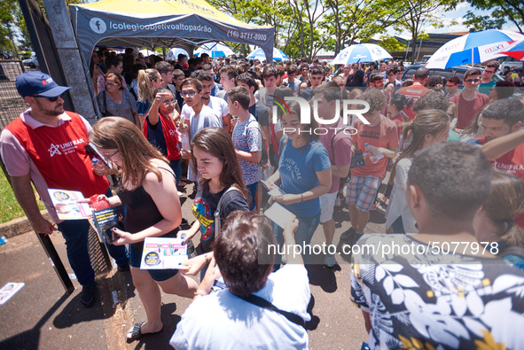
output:
<svg viewBox="0 0 524 350"><path fill-rule="evenodd" d="M87 203L77 203L83 199L82 192L48 189L51 201L60 220L82 220L91 214L91 208Z"/></svg>

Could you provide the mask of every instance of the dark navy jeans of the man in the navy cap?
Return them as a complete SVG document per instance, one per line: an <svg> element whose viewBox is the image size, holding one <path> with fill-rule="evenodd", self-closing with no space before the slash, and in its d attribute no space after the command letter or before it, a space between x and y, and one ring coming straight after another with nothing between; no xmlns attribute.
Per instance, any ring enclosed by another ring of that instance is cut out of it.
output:
<svg viewBox="0 0 524 350"><path fill-rule="evenodd" d="M58 224L59 231L66 239L67 259L78 282L82 285L95 283L95 271L91 267L88 251L90 223L87 220L66 220ZM129 263L125 245L107 245L107 251L118 266Z"/></svg>

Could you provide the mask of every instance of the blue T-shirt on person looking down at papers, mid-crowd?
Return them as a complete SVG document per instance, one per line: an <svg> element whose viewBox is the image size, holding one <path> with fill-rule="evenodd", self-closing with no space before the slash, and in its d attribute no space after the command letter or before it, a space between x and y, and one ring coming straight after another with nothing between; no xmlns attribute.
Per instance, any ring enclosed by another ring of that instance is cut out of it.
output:
<svg viewBox="0 0 524 350"><path fill-rule="evenodd" d="M281 152L278 163L282 190L289 194L299 194L317 187L316 173L331 167L324 145L310 139L309 144L297 149L288 139L282 147L285 137L280 140ZM315 216L320 212L320 198L304 200L285 208L297 216Z"/></svg>

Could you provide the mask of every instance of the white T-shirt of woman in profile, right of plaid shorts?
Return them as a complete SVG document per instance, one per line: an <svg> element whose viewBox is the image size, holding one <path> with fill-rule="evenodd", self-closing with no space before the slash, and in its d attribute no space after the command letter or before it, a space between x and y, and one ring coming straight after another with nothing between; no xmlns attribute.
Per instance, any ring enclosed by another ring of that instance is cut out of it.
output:
<svg viewBox="0 0 524 350"><path fill-rule="evenodd" d="M395 166L395 187L391 193L389 206L387 206L386 229L391 227L393 222L395 222L399 216L402 216L404 232L418 233L418 229L415 226L417 222L415 221L413 214L411 214L410 207L406 201L408 172L410 171L411 163L413 163L413 159L404 158L400 159Z"/></svg>

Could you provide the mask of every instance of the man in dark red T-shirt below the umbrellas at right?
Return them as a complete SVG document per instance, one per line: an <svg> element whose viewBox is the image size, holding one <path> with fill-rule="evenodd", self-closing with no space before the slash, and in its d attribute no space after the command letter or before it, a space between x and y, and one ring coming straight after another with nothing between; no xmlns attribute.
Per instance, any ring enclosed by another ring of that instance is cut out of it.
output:
<svg viewBox="0 0 524 350"><path fill-rule="evenodd" d="M477 68L469 69L464 74L464 91L460 95L450 97L451 102L457 105L458 129L465 129L474 121L477 113L489 103L488 95L476 91L481 83L481 71Z"/></svg>

